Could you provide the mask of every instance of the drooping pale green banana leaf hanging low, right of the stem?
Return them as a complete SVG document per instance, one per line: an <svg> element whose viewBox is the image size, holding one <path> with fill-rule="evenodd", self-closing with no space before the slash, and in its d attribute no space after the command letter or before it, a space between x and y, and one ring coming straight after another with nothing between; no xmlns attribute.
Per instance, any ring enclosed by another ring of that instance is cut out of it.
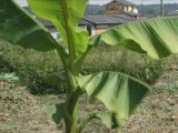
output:
<svg viewBox="0 0 178 133"><path fill-rule="evenodd" d="M98 115L107 120L105 123L109 127L123 125L149 89L141 81L119 72L81 75L78 83L91 99L99 99L109 110L109 113Z"/></svg>

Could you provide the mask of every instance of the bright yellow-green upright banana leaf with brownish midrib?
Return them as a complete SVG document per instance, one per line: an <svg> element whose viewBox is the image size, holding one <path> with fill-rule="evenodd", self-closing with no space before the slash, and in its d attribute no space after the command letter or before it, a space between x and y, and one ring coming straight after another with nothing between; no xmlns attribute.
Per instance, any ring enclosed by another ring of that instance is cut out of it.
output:
<svg viewBox="0 0 178 133"><path fill-rule="evenodd" d="M88 0L28 0L32 11L58 29L73 64L88 49L88 32L78 28ZM46 7L46 8L43 8Z"/></svg>

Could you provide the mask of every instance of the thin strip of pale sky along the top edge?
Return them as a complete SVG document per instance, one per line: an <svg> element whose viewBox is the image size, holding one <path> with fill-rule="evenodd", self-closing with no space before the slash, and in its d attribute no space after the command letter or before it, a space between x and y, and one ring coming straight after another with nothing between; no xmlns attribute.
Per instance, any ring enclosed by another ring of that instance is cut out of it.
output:
<svg viewBox="0 0 178 133"><path fill-rule="evenodd" d="M27 6L26 0L17 0L21 6ZM111 0L89 0L90 4L105 4ZM160 3L160 0L127 0L135 4L152 4ZM178 3L178 0L164 0L164 3Z"/></svg>

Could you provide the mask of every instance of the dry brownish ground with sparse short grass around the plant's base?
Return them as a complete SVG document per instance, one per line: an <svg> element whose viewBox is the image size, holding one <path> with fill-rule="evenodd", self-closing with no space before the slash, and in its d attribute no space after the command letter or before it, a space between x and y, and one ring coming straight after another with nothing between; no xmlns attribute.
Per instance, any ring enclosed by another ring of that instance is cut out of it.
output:
<svg viewBox="0 0 178 133"><path fill-rule="evenodd" d="M42 104L61 99L62 95L34 96L24 86L0 81L0 133L62 133L63 126L58 130L42 111ZM86 96L80 102L80 117L103 109ZM178 133L178 71L167 71L160 78L126 127L109 130L95 120L83 133Z"/></svg>

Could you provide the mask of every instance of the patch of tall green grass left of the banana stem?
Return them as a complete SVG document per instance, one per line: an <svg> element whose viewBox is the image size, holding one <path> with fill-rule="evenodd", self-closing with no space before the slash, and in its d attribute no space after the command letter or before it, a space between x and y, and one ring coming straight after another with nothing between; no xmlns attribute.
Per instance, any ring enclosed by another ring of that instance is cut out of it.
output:
<svg viewBox="0 0 178 133"><path fill-rule="evenodd" d="M60 90L52 90L50 84L47 83L48 74L62 69L56 51L42 53L3 42L0 43L0 53L1 64L6 65L6 68L2 65L1 70L18 73L22 83L29 88L31 93L44 94L53 93L53 91L59 93ZM48 90L48 88L51 90Z"/></svg>

